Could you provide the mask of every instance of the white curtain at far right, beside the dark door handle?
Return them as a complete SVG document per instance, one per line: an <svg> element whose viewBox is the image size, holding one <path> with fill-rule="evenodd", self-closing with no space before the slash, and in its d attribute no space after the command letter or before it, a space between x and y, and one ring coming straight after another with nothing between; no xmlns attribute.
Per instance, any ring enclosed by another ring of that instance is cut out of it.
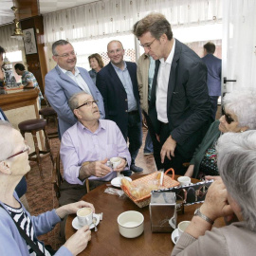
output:
<svg viewBox="0 0 256 256"><path fill-rule="evenodd" d="M223 92L256 87L256 0L227 0L223 37Z"/></svg>

